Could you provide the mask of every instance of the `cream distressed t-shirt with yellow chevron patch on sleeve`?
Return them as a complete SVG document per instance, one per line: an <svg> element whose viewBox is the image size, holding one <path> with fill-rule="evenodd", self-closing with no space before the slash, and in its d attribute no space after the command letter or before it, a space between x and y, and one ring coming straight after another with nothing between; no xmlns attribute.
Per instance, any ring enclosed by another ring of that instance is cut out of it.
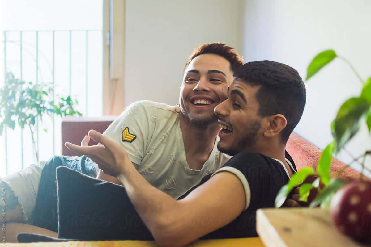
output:
<svg viewBox="0 0 371 247"><path fill-rule="evenodd" d="M107 128L104 136L124 147L129 158L138 164L138 172L154 187L177 199L201 178L218 170L230 156L217 149L213 151L201 170L188 167L180 113L174 106L137 101L125 109Z"/></svg>

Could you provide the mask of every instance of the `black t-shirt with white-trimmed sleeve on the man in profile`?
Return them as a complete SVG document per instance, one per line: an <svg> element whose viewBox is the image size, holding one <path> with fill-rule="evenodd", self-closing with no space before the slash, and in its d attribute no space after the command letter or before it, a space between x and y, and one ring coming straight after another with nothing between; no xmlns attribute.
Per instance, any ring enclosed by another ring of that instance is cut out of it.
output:
<svg viewBox="0 0 371 247"><path fill-rule="evenodd" d="M296 171L294 161L285 151L285 158ZM250 204L235 220L226 226L201 238L240 238L256 237L256 210L274 207L275 198L282 186L288 183L289 177L282 164L259 153L243 151L233 156L223 167L234 167L246 177L250 187ZM191 188L179 199L210 179L205 176L200 184Z"/></svg>

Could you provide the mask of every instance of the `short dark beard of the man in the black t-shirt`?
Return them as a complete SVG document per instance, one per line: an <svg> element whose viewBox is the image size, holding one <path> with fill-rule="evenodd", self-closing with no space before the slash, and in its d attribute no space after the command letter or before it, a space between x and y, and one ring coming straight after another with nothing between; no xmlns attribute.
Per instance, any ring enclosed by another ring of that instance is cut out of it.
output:
<svg viewBox="0 0 371 247"><path fill-rule="evenodd" d="M250 151L249 148L252 147L257 142L257 133L261 127L262 123L260 119L257 119L252 124L250 124L249 131L245 133L242 137L235 140L236 143L233 146L236 147L223 147L219 143L217 144L218 150L229 156L234 156L241 151Z"/></svg>

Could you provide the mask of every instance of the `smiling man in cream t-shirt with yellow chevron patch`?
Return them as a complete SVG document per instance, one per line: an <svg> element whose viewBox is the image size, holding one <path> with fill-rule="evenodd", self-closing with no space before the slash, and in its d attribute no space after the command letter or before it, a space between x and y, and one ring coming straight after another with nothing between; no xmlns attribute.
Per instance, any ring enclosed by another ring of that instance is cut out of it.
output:
<svg viewBox="0 0 371 247"><path fill-rule="evenodd" d="M216 148L220 126L213 109L227 98L233 72L242 64L242 58L225 44L198 47L185 65L177 106L151 101L134 103L109 126L105 135L128 150L132 163L150 183L174 198L179 197L229 159ZM88 141L86 137L82 144ZM30 191L38 190L40 171L33 167L12 174L13 181L3 178L8 183L2 182L8 187L7 222L15 219L31 223L36 193ZM120 183L102 171L97 177ZM28 198L30 194L32 200ZM9 233L12 227L19 226L7 227Z"/></svg>

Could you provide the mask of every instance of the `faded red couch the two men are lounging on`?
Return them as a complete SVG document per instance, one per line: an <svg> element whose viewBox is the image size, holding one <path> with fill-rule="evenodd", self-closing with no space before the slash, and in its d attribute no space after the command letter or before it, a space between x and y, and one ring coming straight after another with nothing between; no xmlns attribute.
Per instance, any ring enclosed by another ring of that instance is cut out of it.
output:
<svg viewBox="0 0 371 247"><path fill-rule="evenodd" d="M70 143L80 144L84 136L89 130L94 129L103 133L109 124L116 119L117 116L105 116L105 117L65 117L62 120L62 143L69 141ZM90 144L92 144L91 141ZM322 150L298 134L292 133L287 144L286 150L289 152L293 160L295 161L296 168L300 170L305 166L311 166L315 168L318 163L319 157L321 157ZM76 154L62 145L62 155L75 156ZM339 160L334 159L331 165L331 174L335 174L345 166ZM340 177L345 181L354 181L360 178L361 174L347 167L341 173ZM371 181L369 178L364 177L364 180Z"/></svg>

